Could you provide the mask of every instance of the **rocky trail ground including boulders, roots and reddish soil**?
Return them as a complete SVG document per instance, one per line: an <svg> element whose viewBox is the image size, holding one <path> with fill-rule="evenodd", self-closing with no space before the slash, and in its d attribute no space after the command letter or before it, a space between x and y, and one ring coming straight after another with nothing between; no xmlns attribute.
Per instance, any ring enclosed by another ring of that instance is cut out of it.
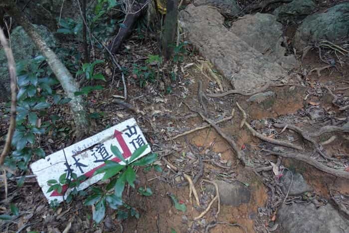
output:
<svg viewBox="0 0 349 233"><path fill-rule="evenodd" d="M184 60L164 63L163 76L144 88L127 77L129 102L145 115L113 103L122 91L112 73L106 72L107 88L89 97L90 112L104 112L93 121L95 132L134 117L160 155L163 172L137 173L136 187L154 194L125 192L140 219L120 221L110 209L96 226L82 198L52 210L35 178L22 188L9 179L8 199L20 215L1 222L1 232L63 232L69 223L70 232L349 232L349 3L278 4L260 12L252 1L188 4L179 13L190 42ZM154 44L134 35L117 58L124 67L142 64L157 53ZM68 107L52 111L69 125ZM6 118L0 127L6 130ZM73 143L66 136L47 139L40 144L47 154ZM199 205L183 174L196 181ZM205 180L218 186L219 202L194 220L216 195Z"/></svg>

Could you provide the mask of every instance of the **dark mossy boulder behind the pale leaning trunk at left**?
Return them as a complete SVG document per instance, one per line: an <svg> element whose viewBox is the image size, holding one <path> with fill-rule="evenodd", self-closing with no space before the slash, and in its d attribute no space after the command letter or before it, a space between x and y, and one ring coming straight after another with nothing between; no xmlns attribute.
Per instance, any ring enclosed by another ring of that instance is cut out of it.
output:
<svg viewBox="0 0 349 233"><path fill-rule="evenodd" d="M53 34L43 25L35 25L35 29L46 41L47 45L50 48L55 48L55 38ZM31 59L39 55L38 50L35 45L32 43L30 37L26 34L24 29L21 26L17 26L11 32L11 47L14 60L16 62L25 59ZM0 99L8 99L9 93L9 76L7 70L7 58L3 49L0 49L0 87L4 87L6 93L0 93Z"/></svg>

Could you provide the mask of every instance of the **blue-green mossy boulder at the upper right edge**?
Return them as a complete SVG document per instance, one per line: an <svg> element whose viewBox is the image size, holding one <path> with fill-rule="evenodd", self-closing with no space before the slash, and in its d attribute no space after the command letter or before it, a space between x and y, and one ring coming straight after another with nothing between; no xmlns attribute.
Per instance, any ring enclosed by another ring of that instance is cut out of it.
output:
<svg viewBox="0 0 349 233"><path fill-rule="evenodd" d="M349 35L349 3L335 5L324 13L307 16L297 29L294 46L302 50L321 39L336 40Z"/></svg>

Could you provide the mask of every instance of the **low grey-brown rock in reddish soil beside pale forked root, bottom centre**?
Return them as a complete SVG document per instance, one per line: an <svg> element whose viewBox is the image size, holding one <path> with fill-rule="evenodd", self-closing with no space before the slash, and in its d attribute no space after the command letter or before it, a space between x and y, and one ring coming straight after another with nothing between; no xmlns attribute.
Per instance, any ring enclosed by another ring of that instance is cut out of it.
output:
<svg viewBox="0 0 349 233"><path fill-rule="evenodd" d="M251 199L251 191L239 181L233 181L232 184L218 180L214 182L218 185L220 202L224 205L237 207ZM208 185L207 191L215 195L213 185Z"/></svg>

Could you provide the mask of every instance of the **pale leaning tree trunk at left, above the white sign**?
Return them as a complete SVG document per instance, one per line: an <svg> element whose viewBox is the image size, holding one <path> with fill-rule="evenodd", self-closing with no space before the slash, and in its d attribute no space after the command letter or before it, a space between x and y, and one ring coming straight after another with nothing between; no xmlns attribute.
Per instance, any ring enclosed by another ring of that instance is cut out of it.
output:
<svg viewBox="0 0 349 233"><path fill-rule="evenodd" d="M12 0L3 0L3 2L0 3L0 6L1 4L4 5L5 11L23 27L42 55L46 57L46 61L62 85L66 97L71 99L69 105L74 118L77 138L83 137L84 134L88 132L89 121L87 119L87 113L82 98L74 95L76 91L79 91L79 87L73 76L63 65L57 55L47 46L27 17L19 11L15 3Z"/></svg>

